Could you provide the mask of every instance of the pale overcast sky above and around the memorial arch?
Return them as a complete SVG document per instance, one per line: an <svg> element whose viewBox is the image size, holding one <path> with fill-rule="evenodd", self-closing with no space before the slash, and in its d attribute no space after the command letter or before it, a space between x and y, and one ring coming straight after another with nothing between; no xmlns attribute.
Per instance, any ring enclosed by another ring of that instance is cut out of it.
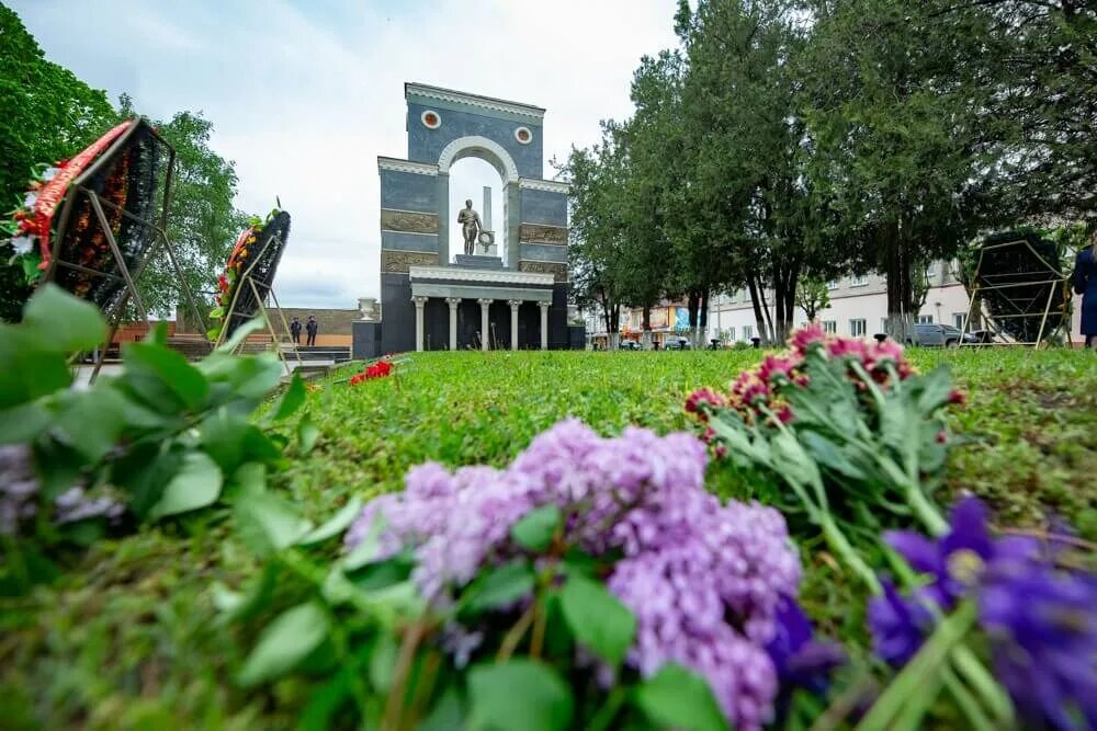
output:
<svg viewBox="0 0 1097 731"><path fill-rule="evenodd" d="M293 216L275 284L290 307L377 296L376 157L407 153L405 81L545 107L551 179L553 156L631 113L641 56L675 43L675 0L4 1L112 101L204 112L236 161L237 206L264 213L278 195ZM451 186L479 208L500 183L476 163Z"/></svg>

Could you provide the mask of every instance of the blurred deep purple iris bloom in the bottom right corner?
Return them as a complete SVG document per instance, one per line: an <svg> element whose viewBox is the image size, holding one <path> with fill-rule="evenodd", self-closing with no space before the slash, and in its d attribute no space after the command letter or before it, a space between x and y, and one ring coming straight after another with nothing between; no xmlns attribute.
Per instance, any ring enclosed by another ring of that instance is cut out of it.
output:
<svg viewBox="0 0 1097 731"><path fill-rule="evenodd" d="M1097 582L1045 564L989 571L980 619L995 671L1031 728L1097 729Z"/></svg>

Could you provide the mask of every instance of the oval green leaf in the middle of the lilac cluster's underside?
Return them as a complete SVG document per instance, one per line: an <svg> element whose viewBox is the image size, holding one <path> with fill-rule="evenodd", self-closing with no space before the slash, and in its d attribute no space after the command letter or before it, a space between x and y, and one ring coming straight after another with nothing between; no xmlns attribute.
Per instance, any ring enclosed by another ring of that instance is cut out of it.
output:
<svg viewBox="0 0 1097 731"><path fill-rule="evenodd" d="M597 581L569 574L559 594L564 618L575 639L617 665L636 636L636 618Z"/></svg>

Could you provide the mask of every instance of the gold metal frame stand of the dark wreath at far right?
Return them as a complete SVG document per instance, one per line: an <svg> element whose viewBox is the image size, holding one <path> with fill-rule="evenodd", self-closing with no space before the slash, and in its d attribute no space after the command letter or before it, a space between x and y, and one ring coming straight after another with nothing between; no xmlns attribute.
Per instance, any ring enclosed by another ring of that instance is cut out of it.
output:
<svg viewBox="0 0 1097 731"><path fill-rule="evenodd" d="M1021 273L1009 273L1009 274L986 274L983 272L983 258L988 251L997 251L1002 249L1010 249L1015 247L1025 247L1029 252L1039 260L1047 269L1043 272L1021 272ZM1017 281L1016 277L1026 277L1022 281ZM1028 278L1033 277L1033 278ZM1042 278L1041 278L1042 277ZM962 332L968 332L969 323L974 319L977 313L982 317L983 322L986 323L988 330L991 330L994 335L1004 339L1005 342L987 342L979 343L981 345L1025 345L1038 349L1041 345L1047 345L1047 338L1050 338L1053 333L1065 330L1066 343L1070 346L1074 345L1074 341L1071 338L1071 319L1068 317L1063 317L1060 323L1048 329L1048 318L1051 316L1051 304L1054 301L1055 297L1055 286L1061 286L1067 292L1067 296L1064 301L1070 300L1068 296L1068 284L1067 276L1060 272L1058 269L1051 265L1047 259L1044 259L1040 253L1032 248L1032 244L1026 239L1017 239L1016 241L1004 241L1002 243L993 243L980 248L979 261L975 264L975 273L972 277L972 290L971 290L971 301L968 305L968 311L964 313ZM1022 299L1020 297L1010 297L1008 295L1009 289L1015 289L1017 287L1039 287L1045 285L1048 287L1048 299L1043 304L1042 312L1032 312L1026 309L1026 306L1034 304L1034 299ZM982 297L980 294L983 292L1000 292L1002 300L1009 305L1011 311L1007 315L993 315L983 306ZM1065 305L1064 305L1065 307ZM1032 341L1019 341L1003 332L1002 328L996 324L997 320L1008 320L1018 318L1040 318L1040 329L1037 332L1036 340ZM1008 340L1006 340L1008 339ZM960 346L964 346L964 343L960 342Z"/></svg>

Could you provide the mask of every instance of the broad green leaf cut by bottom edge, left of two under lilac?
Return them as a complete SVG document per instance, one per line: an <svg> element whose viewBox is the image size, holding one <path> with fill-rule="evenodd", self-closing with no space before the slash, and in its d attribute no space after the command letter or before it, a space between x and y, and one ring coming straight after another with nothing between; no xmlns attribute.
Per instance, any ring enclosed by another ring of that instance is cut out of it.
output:
<svg viewBox="0 0 1097 731"><path fill-rule="evenodd" d="M513 659L468 673L470 728L563 731L572 722L572 690L548 665Z"/></svg>

